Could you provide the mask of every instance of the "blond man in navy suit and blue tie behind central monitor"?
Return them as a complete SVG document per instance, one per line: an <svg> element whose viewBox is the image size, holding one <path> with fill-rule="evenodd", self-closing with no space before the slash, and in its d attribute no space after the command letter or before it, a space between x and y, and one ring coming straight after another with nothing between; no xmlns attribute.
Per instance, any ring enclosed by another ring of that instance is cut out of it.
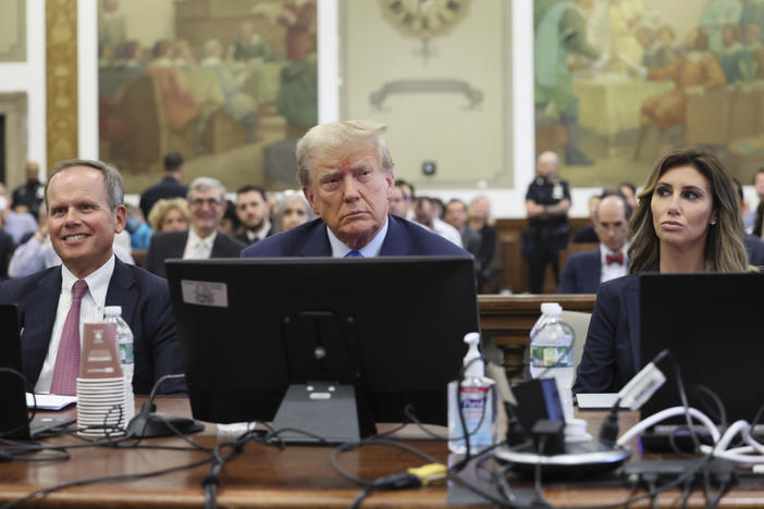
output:
<svg viewBox="0 0 764 509"><path fill-rule="evenodd" d="M297 144L298 178L319 219L268 237L242 256L469 256L441 236L387 213L394 175L384 129L365 121L311 128Z"/></svg>

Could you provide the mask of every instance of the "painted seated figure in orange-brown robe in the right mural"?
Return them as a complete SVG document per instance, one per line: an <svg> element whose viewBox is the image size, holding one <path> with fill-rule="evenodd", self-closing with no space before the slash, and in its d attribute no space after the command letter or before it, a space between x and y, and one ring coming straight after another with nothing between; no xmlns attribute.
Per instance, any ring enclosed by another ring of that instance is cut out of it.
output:
<svg viewBox="0 0 764 509"><path fill-rule="evenodd" d="M718 60L707 51L708 33L705 29L690 32L686 44L685 54L679 55L669 65L644 70L648 79L671 79L676 87L642 103L643 132L649 125L654 125L661 131L674 125L685 125L688 97L722 87L726 83ZM643 133L640 134L640 140L642 138Z"/></svg>

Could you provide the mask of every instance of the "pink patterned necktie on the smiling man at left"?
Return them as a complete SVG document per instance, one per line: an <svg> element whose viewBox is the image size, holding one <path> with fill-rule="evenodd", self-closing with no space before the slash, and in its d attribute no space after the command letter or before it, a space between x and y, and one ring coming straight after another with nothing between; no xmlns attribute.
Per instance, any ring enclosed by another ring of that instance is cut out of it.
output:
<svg viewBox="0 0 764 509"><path fill-rule="evenodd" d="M69 308L64 328L61 333L59 351L53 368L53 382L50 394L75 396L79 375L79 305L87 291L85 280L77 280L72 289L72 306Z"/></svg>

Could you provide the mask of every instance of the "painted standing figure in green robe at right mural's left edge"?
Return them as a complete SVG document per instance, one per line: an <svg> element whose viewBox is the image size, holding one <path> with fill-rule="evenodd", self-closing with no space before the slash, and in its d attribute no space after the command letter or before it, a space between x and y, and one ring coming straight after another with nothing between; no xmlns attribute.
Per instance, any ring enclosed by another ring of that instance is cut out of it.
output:
<svg viewBox="0 0 764 509"><path fill-rule="evenodd" d="M568 138L566 164L592 164L578 147L578 99L568 69L570 54L592 60L600 57L587 42L586 12L568 0L537 0L533 17L537 110L558 113Z"/></svg>

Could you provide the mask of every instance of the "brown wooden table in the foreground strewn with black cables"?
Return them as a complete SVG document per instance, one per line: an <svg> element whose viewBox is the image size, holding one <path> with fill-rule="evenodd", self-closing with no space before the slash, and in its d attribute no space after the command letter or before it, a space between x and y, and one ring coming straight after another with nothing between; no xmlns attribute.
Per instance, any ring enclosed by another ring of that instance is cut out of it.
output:
<svg viewBox="0 0 764 509"><path fill-rule="evenodd" d="M140 402L140 401L139 401ZM163 398L159 410L167 413L188 414L185 399ZM66 413L74 414L74 410ZM590 431L596 433L604 412L581 412L590 421ZM634 423L637 415L625 412L620 417L621 430ZM194 440L211 447L219 439L213 425L197 435ZM78 440L59 437L46 440L48 445L69 445ZM150 445L183 445L178 438L155 438ZM414 445L442 461L447 460L447 450L442 442L411 439ZM220 507L261 508L347 508L359 488L340 477L329 461L331 449L326 447L292 446L284 450L261 444L247 444L243 454L226 464L222 473L218 504ZM0 463L0 504L24 496L35 489L60 483L102 475L140 473L182 465L201 460L201 451L128 450L108 447L73 449L72 459L52 463L27 463L13 461ZM397 472L407 467L423 463L407 452L366 447L340 457L342 465L353 475L377 477ZM77 507L77 508L137 508L137 507L204 507L201 481L207 465L139 481L108 482L89 486L70 487L36 499L24 507ZM628 491L613 482L599 486L575 483L544 483L545 499L554 506L589 507L624 500ZM677 505L678 491L660 497L661 507ZM736 488L722 499L725 507L753 507L764 504L764 487L755 489ZM704 507L700 491L690 498L691 507ZM637 507L646 507L642 501ZM362 508L431 508L446 506L446 487L372 493ZM475 506L472 506L475 507Z"/></svg>

